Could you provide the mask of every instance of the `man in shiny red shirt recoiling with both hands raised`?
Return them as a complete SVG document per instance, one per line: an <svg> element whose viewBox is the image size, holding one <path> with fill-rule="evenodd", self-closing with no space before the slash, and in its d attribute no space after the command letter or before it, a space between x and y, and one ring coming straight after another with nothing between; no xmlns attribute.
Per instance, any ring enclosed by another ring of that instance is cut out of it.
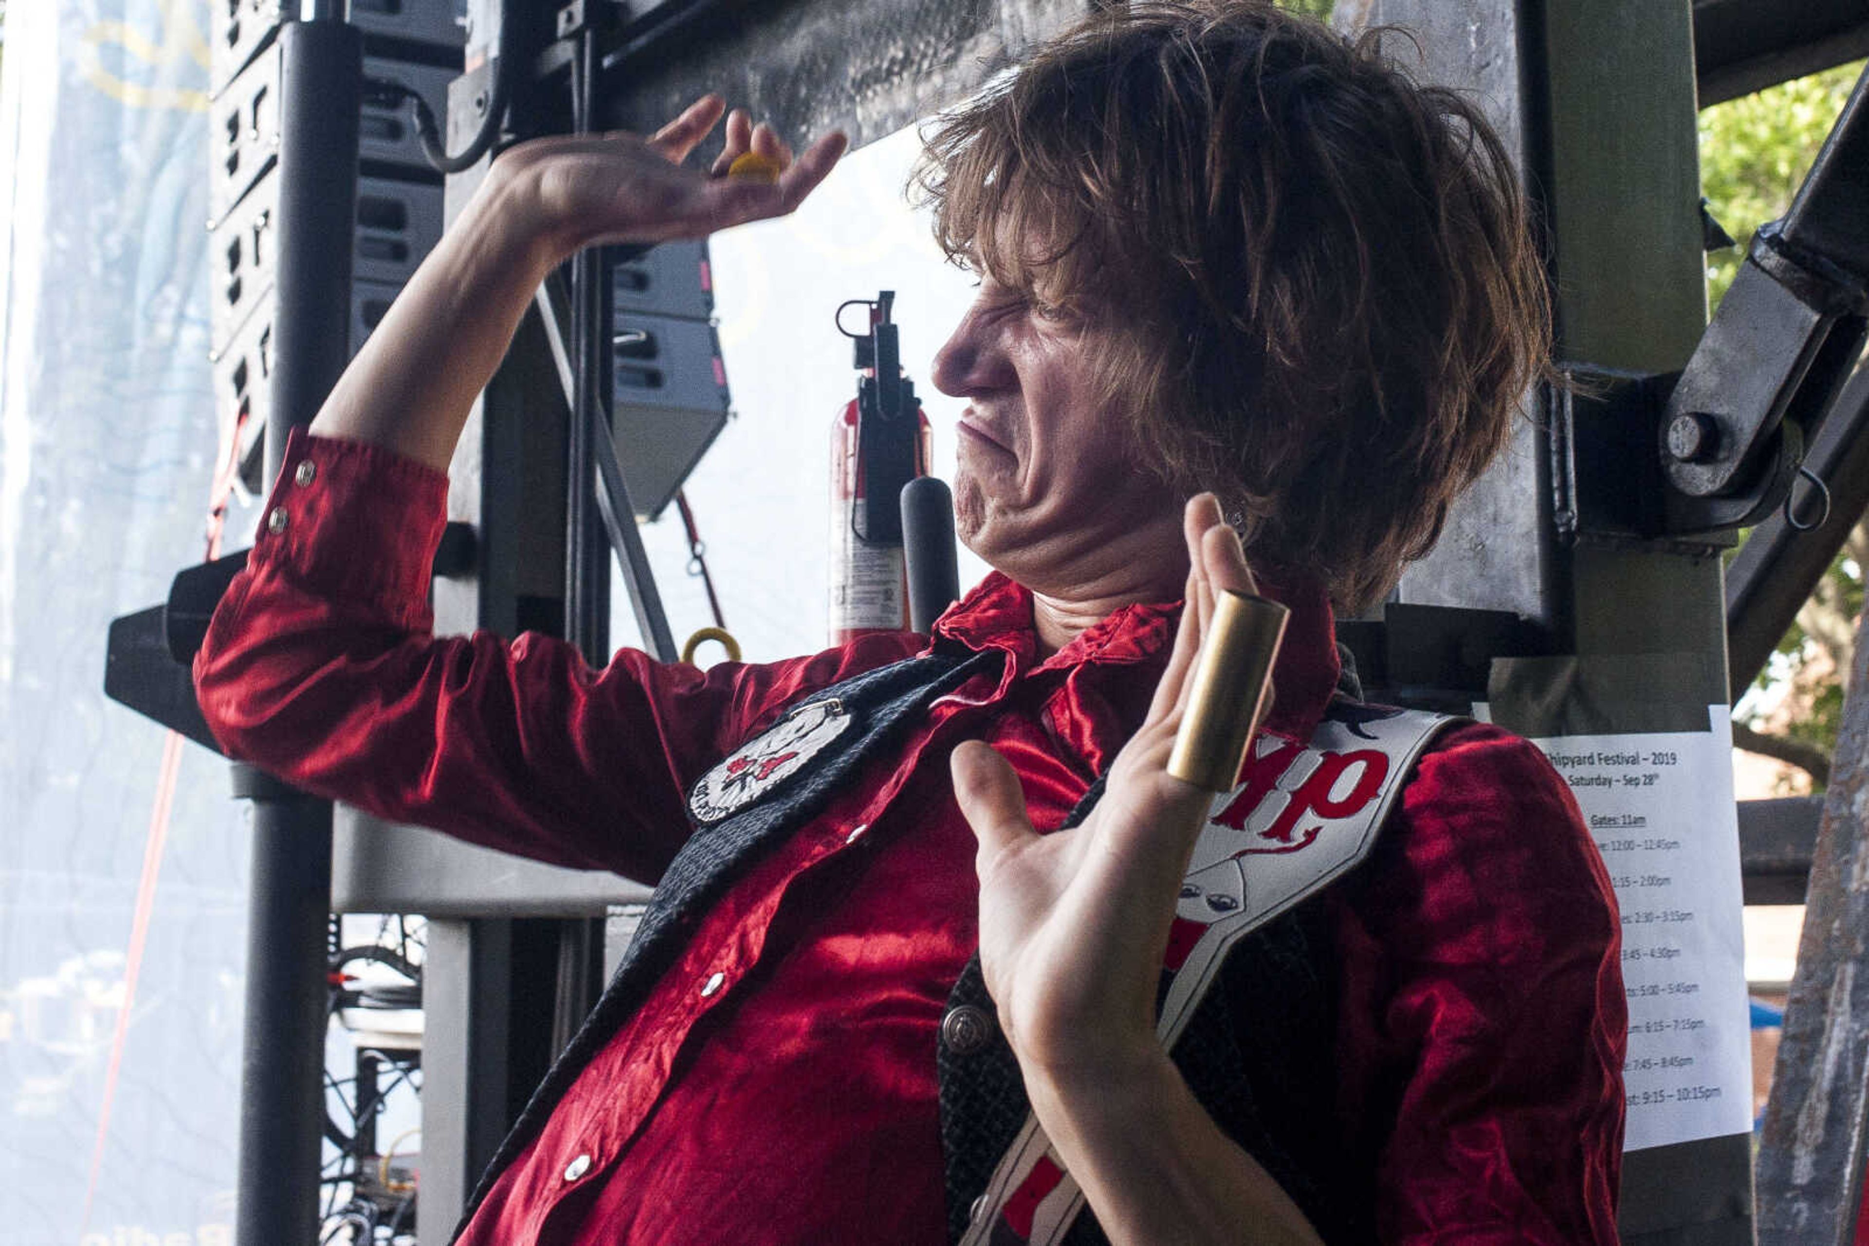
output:
<svg viewBox="0 0 1869 1246"><path fill-rule="evenodd" d="M716 174L751 149L779 179L682 168L721 112L493 164L293 439L198 659L230 753L660 880L462 1240L1019 1240L1028 1186L991 1177L1028 1106L1034 1197L1067 1173L1088 1199L1067 1240L1613 1240L1615 906L1497 729L1437 736L1374 856L1157 1039L1209 803L1164 760L1215 594L1250 555L1293 611L1263 798L1334 714L1331 605L1432 544L1542 366L1484 123L1269 4L1095 17L929 138L936 232L981 275L933 379L966 400L957 517L996 568L931 646L703 674L434 639L443 471L538 280L789 211L841 149L791 161L733 114Z"/></svg>

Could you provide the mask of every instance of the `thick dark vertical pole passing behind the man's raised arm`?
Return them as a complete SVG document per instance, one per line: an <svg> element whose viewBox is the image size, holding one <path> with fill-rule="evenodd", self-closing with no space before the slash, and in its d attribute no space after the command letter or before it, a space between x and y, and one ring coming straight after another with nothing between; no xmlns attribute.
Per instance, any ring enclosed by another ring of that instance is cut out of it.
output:
<svg viewBox="0 0 1869 1246"><path fill-rule="evenodd" d="M342 21L286 22L280 41L278 269L265 474L310 424L350 357L363 41ZM290 516L286 516L290 523ZM252 768L239 1246L318 1240L331 912L331 801Z"/></svg>

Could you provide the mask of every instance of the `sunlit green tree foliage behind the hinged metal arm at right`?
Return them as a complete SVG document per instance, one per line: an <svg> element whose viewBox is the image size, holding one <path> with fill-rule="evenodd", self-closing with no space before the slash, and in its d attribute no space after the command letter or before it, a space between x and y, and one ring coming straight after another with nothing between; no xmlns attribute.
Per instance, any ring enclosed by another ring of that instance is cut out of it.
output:
<svg viewBox="0 0 1869 1246"><path fill-rule="evenodd" d="M1718 306L1751 245L1753 232L1791 205L1824 136L1856 86L1863 62L1785 82L1701 112L1701 189L1714 219L1738 247L1708 258L1708 297ZM1843 719L1843 680L1863 607L1869 525L1858 523L1798 622L1759 676L1776 710L1757 715L1757 730L1835 749Z"/></svg>

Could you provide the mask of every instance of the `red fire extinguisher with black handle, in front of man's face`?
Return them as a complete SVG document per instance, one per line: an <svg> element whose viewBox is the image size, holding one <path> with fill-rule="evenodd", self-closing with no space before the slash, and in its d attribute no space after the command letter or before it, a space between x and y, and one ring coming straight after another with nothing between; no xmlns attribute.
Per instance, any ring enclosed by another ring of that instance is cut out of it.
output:
<svg viewBox="0 0 1869 1246"><path fill-rule="evenodd" d="M884 290L875 301L849 299L835 318L837 331L854 342L858 379L856 398L837 413L830 435L832 644L908 628L901 493L927 474L933 433L903 374L893 303L895 291ZM869 308L863 333L843 325L852 306Z"/></svg>

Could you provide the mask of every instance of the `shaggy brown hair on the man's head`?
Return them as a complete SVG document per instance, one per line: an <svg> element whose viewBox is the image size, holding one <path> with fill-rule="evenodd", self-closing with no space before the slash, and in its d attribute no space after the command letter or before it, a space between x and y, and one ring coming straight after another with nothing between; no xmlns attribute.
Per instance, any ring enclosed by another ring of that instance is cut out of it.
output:
<svg viewBox="0 0 1869 1246"><path fill-rule="evenodd" d="M1383 34L1118 6L925 129L955 262L1110 325L1099 392L1247 553L1381 598L1505 445L1549 310L1510 159Z"/></svg>

